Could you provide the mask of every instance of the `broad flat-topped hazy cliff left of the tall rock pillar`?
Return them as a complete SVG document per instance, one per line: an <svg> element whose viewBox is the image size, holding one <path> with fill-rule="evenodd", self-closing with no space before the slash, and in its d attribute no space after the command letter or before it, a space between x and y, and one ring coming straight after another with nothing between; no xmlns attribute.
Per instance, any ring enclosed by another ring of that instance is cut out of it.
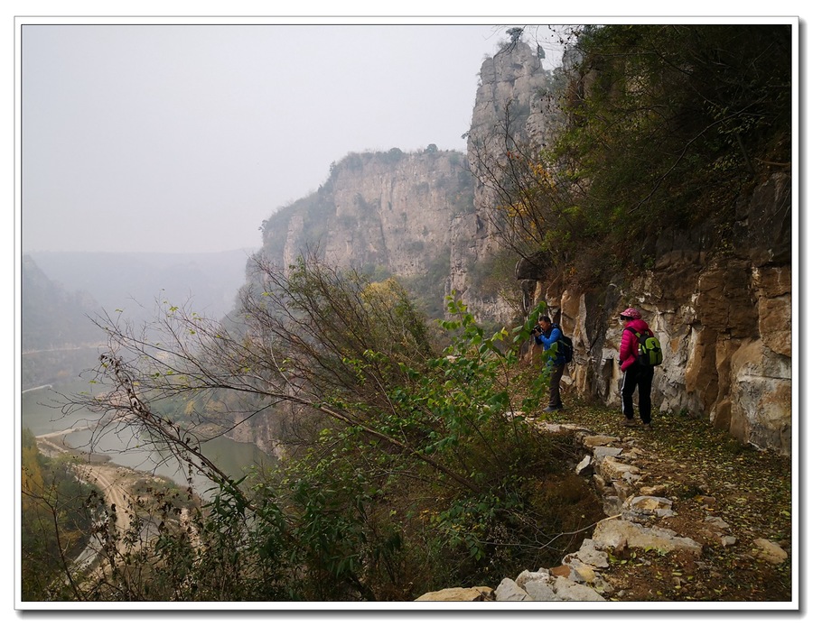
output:
<svg viewBox="0 0 813 626"><path fill-rule="evenodd" d="M353 153L332 166L322 188L266 220L263 253L288 265L317 246L339 267L411 281L428 308L440 312L452 242L461 236L457 225L472 215L473 180L463 154L434 146Z"/></svg>

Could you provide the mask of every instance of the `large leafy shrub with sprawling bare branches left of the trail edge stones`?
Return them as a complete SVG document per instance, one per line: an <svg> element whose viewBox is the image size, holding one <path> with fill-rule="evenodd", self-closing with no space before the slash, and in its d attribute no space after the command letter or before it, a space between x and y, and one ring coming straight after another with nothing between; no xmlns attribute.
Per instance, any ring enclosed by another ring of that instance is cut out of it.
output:
<svg viewBox="0 0 813 626"><path fill-rule="evenodd" d="M95 599L411 600L541 566L579 537L583 518L560 508L592 514L584 499L565 487L540 499L534 488L569 480L575 444L520 412L544 405L541 377L518 386L516 376L538 311L512 332L488 333L450 298L439 344L397 281L316 259L259 271L267 291L247 294L245 336L175 310L171 336L192 343L153 354L126 327L109 327L117 350L141 358L105 356L99 380L122 392L85 406L121 416L118 402L144 398L127 419L220 487L202 508L190 503L183 523L177 494L162 498L166 508L139 501L157 514L157 532L145 541L148 516L131 516L141 526L110 553ZM172 368L156 363L162 354ZM285 403L294 428L315 436L275 468L234 480L189 443L195 429L145 409L148 398L220 388L236 394L235 415L239 394L253 399L247 415L258 398Z"/></svg>

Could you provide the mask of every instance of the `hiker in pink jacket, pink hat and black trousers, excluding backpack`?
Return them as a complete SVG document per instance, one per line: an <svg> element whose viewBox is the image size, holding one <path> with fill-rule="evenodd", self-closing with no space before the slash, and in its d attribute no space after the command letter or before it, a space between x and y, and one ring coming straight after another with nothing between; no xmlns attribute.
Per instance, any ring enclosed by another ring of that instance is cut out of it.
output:
<svg viewBox="0 0 813 626"><path fill-rule="evenodd" d="M638 362L638 337L649 335L649 325L640 318L637 308L626 308L621 312L621 346L618 350L618 360L624 381L621 385L621 411L624 414L624 426L635 426L637 422L633 416L632 393L638 387L638 412L644 428L652 428L652 378L655 368L652 365L642 365ZM632 332L635 331L635 332Z"/></svg>

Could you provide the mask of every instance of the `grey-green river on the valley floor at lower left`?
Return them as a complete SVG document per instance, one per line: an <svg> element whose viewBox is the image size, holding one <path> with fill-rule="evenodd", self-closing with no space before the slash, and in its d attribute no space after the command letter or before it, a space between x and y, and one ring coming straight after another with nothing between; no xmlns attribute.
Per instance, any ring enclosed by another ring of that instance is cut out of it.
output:
<svg viewBox="0 0 813 626"><path fill-rule="evenodd" d="M147 473L160 474L185 485L186 476L178 463L160 455L155 447L139 437L132 428L120 428L117 432L107 432L102 437L93 437L92 425L98 416L89 411L78 411L65 417L58 408L61 401L58 392L70 393L73 390L42 386L23 392L22 426L29 428L34 436L48 435L71 430L61 436L68 446L84 452L95 452L109 456L110 462L124 465ZM251 465L273 465L273 456L266 455L254 444L238 443L226 437L218 437L201 445L203 454L220 467L226 474L239 478L246 474ZM214 486L204 476L192 476L196 493L206 497L206 492Z"/></svg>

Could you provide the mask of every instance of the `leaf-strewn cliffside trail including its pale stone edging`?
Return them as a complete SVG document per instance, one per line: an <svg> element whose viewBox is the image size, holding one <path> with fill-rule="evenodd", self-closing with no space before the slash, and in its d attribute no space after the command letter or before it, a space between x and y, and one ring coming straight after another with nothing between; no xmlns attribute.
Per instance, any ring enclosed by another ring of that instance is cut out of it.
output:
<svg viewBox="0 0 813 626"><path fill-rule="evenodd" d="M584 458L574 471L603 500L593 538L559 566L418 600L798 602L789 457L702 417L658 416L649 431L621 426L612 410L553 415L538 428L575 433Z"/></svg>

